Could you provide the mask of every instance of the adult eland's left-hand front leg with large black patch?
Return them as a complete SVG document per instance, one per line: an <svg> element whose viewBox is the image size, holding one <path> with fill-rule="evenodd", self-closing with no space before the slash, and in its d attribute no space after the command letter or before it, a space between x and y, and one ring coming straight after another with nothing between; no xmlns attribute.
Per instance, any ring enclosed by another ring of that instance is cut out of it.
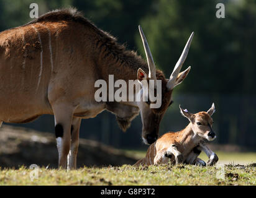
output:
<svg viewBox="0 0 256 198"><path fill-rule="evenodd" d="M58 148L58 167L66 168L66 160L70 152L71 123L73 108L68 105L52 106L55 118L55 136Z"/></svg>

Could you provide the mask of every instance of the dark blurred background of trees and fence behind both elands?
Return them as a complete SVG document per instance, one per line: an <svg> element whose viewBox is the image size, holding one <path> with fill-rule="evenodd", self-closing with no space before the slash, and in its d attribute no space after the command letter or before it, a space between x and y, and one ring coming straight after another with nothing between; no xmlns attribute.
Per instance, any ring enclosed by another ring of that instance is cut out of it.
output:
<svg viewBox="0 0 256 198"><path fill-rule="evenodd" d="M142 25L158 69L170 76L191 32L194 39L183 69L191 66L185 81L175 88L171 105L161 123L160 134L183 129L188 121L178 105L196 113L214 102L217 144L235 144L256 149L256 1L187 0L0 0L0 30L29 22L29 5L39 4L39 14L74 6L99 28L126 43L145 57L138 25ZM216 4L225 5L225 18L217 19ZM124 74L125 75L125 74ZM16 124L17 126L17 124ZM53 116L20 126L54 131ZM84 119L80 137L117 148L142 149L140 116L126 133L114 115L104 111Z"/></svg>

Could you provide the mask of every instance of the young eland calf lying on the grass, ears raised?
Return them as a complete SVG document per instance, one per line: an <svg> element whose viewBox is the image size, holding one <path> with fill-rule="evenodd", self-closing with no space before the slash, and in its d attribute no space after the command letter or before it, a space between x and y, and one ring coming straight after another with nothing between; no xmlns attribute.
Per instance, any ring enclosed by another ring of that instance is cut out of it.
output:
<svg viewBox="0 0 256 198"><path fill-rule="evenodd" d="M203 150L209 157L208 166L214 165L219 159L211 151L206 142L211 142L216 138L213 131L213 115L215 111L214 103L206 111L193 114L188 110L183 110L183 116L189 119L190 124L185 129L178 132L167 132L163 134L154 144L150 145L146 157L137 161L135 165L157 165L161 163L188 163L193 165L203 165L206 163L198 158Z"/></svg>

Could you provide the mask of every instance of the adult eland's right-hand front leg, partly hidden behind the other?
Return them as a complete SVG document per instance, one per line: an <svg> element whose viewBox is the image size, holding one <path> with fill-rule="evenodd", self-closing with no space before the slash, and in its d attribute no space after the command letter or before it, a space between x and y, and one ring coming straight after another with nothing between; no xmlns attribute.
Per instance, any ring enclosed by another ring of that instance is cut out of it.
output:
<svg viewBox="0 0 256 198"><path fill-rule="evenodd" d="M68 153L68 170L76 169L76 155L78 153L79 146L80 124L81 118L73 118L71 125L71 147L70 153Z"/></svg>

